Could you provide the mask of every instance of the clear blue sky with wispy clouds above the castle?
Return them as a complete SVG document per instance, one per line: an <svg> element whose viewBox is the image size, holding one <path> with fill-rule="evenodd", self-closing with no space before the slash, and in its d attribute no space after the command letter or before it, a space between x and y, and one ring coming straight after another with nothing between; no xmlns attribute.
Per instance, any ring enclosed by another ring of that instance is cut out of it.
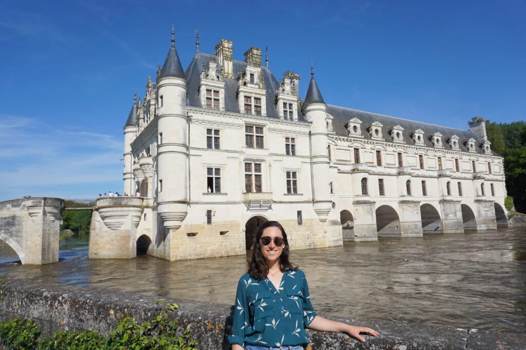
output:
<svg viewBox="0 0 526 350"><path fill-rule="evenodd" d="M467 129L524 120L526 2L12 1L0 12L0 200L122 192L123 125L170 44L234 41L325 101Z"/></svg>

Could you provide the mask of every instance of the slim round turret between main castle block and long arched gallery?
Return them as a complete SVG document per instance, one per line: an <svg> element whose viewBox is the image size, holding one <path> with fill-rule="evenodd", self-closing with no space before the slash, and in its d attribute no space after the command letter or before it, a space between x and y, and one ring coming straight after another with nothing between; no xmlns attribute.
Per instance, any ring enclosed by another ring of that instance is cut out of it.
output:
<svg viewBox="0 0 526 350"><path fill-rule="evenodd" d="M302 110L307 120L312 123L312 186L314 189L314 211L320 221L326 221L331 211L329 188L329 156L327 154L327 104L323 101L318 84L314 79L311 63L309 89Z"/></svg>

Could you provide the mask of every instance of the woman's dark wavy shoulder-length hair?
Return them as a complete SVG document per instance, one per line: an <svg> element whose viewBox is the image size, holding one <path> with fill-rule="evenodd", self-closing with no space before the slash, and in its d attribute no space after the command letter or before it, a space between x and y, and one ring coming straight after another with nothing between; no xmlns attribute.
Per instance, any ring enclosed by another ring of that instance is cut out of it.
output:
<svg viewBox="0 0 526 350"><path fill-rule="evenodd" d="M254 242L252 243L252 257L248 261L248 273L250 277L254 279L261 279L267 277L268 266L263 253L261 253L261 242L260 238L263 234L263 231L269 227L277 227L281 231L281 235L285 240L283 250L279 256L279 269L281 272L285 272L285 269L296 270L298 267L294 266L289 261L289 241L287 240L287 234L283 229L283 226L278 221L267 221L261 225L256 235L254 236Z"/></svg>

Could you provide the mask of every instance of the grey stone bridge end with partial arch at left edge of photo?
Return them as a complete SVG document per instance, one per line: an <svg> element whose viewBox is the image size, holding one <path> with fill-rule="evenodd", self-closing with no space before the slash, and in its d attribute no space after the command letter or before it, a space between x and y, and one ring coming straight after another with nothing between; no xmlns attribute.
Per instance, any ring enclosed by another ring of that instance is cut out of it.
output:
<svg viewBox="0 0 526 350"><path fill-rule="evenodd" d="M22 264L57 262L63 209L60 198L0 202L0 240L13 248Z"/></svg>

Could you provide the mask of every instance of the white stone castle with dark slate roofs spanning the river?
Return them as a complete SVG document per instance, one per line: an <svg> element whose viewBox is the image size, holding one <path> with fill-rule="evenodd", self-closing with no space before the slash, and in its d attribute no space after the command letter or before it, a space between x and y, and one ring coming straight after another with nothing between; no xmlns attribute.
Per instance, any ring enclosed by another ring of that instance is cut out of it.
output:
<svg viewBox="0 0 526 350"><path fill-rule="evenodd" d="M171 47L124 126L124 193L97 200L90 258L245 254L277 220L291 249L343 239L422 236L507 225L502 157L485 121L458 130L326 104L313 70L277 80L251 47Z"/></svg>

